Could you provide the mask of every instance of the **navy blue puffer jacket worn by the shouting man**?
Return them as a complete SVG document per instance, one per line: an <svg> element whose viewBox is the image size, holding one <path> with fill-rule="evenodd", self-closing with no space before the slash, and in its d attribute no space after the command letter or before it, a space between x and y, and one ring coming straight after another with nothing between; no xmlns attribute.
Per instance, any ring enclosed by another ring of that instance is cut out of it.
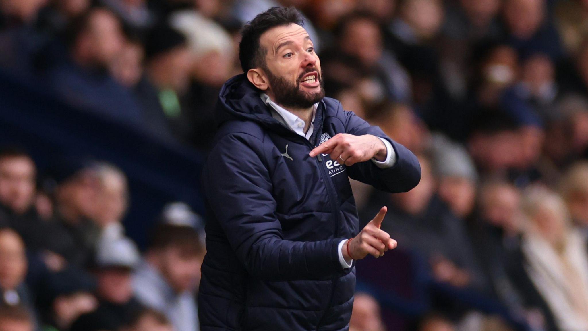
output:
<svg viewBox="0 0 588 331"><path fill-rule="evenodd" d="M306 140L272 117L243 74L226 82L217 107L219 132L202 174L201 330L347 330L355 267L340 265L338 244L359 231L348 177L408 191L420 180L415 155L331 98L319 103ZM389 140L395 166L309 156L338 133Z"/></svg>

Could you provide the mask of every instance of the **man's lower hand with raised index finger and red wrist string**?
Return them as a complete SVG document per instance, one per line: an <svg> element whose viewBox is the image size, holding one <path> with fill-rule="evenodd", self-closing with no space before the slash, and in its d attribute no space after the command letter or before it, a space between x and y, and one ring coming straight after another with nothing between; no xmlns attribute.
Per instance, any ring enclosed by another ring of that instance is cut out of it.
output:
<svg viewBox="0 0 588 331"><path fill-rule="evenodd" d="M396 240L390 239L390 235L385 231L380 230L380 225L384 220L387 208L382 207L379 213L373 220L363 228L360 233L348 241L343 247L341 247L341 253L346 261L350 260L361 260L368 254L372 254L374 257L380 257L384 255L384 252L389 249L396 248ZM348 246L349 245L349 254ZM349 256L350 255L350 256Z"/></svg>

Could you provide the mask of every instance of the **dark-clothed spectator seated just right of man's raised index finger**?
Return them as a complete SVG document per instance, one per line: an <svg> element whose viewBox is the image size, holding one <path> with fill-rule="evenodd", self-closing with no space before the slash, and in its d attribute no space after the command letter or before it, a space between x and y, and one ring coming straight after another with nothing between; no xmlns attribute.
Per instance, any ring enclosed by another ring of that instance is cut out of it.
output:
<svg viewBox="0 0 588 331"><path fill-rule="evenodd" d="M400 245L425 256L437 281L483 292L486 279L473 254L465 223L437 196L429 161L423 157L419 161L422 174L413 190L377 194L362 214L373 213L377 206L389 206L382 230L393 233Z"/></svg>

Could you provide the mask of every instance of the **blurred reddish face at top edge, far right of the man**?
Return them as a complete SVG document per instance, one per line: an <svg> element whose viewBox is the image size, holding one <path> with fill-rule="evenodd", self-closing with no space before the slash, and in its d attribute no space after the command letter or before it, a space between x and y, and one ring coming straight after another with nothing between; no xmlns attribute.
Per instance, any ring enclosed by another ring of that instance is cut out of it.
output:
<svg viewBox="0 0 588 331"><path fill-rule="evenodd" d="M510 33L517 38L528 39L543 24L544 0L507 0L505 21Z"/></svg>

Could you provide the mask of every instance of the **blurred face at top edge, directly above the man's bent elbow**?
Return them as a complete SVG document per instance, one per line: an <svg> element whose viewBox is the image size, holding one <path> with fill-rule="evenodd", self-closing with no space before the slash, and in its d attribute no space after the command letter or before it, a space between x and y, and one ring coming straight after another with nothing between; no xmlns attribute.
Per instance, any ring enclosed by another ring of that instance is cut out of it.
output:
<svg viewBox="0 0 588 331"><path fill-rule="evenodd" d="M437 0L408 0L401 13L407 24L424 39L434 37L443 23L443 8Z"/></svg>

